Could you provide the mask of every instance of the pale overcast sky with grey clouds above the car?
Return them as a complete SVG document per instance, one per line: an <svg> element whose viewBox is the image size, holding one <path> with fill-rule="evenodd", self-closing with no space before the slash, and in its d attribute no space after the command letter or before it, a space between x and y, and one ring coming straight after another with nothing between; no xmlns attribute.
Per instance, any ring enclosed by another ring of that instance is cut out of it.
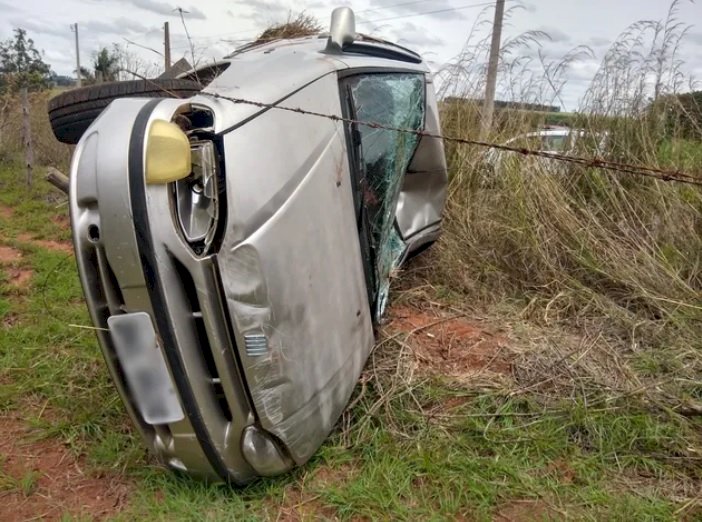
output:
<svg viewBox="0 0 702 522"><path fill-rule="evenodd" d="M326 26L332 8L351 6L360 32L377 34L420 52L434 70L450 62L463 48L476 20L492 17L492 3L484 0L0 0L0 39L14 27L27 30L45 61L59 74L75 70L73 33L78 23L81 64L90 65L93 53L125 38L161 51L162 27L170 22L173 59L190 55L188 41L176 7L185 20L201 60L221 57L241 40L252 38L272 22L304 10ZM542 53L563 56L578 45L587 45L592 57L582 58L566 72L568 83L561 97L574 109L616 37L638 20L662 20L668 0L507 0L508 19L503 39L525 31L544 31ZM510 8L512 10L510 11ZM481 18L482 17L482 18ZM681 0L678 19L691 25L679 57L684 72L702 78L702 0ZM479 26L479 39L489 24ZM145 61L162 61L157 54L129 44ZM525 51L527 52L527 51ZM533 51L532 51L533 52Z"/></svg>

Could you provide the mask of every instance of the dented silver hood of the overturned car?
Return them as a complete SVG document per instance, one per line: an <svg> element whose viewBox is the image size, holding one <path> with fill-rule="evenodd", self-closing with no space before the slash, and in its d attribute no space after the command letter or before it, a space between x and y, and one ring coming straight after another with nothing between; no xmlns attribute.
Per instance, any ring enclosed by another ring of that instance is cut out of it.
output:
<svg viewBox="0 0 702 522"><path fill-rule="evenodd" d="M338 115L337 82L324 76L287 102ZM339 122L268 111L224 141L223 290L261 425L296 462L331 430L373 344L343 135ZM275 154L249 152L262 143ZM265 355L242 353L255 335Z"/></svg>

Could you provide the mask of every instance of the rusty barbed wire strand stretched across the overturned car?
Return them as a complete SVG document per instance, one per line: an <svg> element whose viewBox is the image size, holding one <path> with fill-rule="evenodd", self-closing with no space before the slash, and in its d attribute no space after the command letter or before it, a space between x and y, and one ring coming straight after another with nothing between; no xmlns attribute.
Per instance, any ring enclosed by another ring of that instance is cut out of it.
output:
<svg viewBox="0 0 702 522"><path fill-rule="evenodd" d="M581 156L571 156L568 154L561 154L558 152L547 152L543 150L528 149L525 147L513 147L511 145L505 145L500 143L492 143L482 140L474 140L470 138L463 138L459 136L447 136L445 134L435 134L418 129L407 129L402 127L394 127L391 125L384 125L374 121L363 121L356 120L353 118L346 118L343 116L338 116L336 114L325 114L322 112L311 111L307 109L302 109L300 107L287 107L283 105L278 105L276 103L265 103L254 100L247 100L244 98L237 98L233 96L224 96L222 94L201 92L200 94L205 96L210 96L216 99L228 100L234 103L240 103L243 105L251 105L258 107L260 109L277 109L287 112L293 112L296 114L302 114L307 116L315 116L318 118L325 118L327 120L348 123L351 125L363 125L365 127L370 127L372 129L388 130L393 132L402 132L406 134L413 134L418 137L434 138L443 140L444 142L457 143L462 145L471 145L477 147L483 147L493 150L501 150L505 152L514 152L524 156L536 156L556 161L562 161L566 163L572 163L576 165L583 165L586 167L593 167L603 170L610 170L615 172L621 172L624 174L633 174L638 176L645 176L649 178L658 179L660 181L677 181L679 183L686 183L689 185L702 186L702 176L695 176L682 171L665 170L658 167L650 167L646 165L634 165L630 163L622 163L618 161L612 161L604 158L594 157L585 158Z"/></svg>

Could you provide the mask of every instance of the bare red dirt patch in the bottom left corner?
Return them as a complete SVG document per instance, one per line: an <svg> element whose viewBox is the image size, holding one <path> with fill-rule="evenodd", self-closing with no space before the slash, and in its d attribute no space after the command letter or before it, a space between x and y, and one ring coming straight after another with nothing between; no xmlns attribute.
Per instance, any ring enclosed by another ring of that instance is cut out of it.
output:
<svg viewBox="0 0 702 522"><path fill-rule="evenodd" d="M20 420L0 418L0 469L9 486L0 493L0 520L105 519L122 510L130 490L122 479L90 476L58 441L26 442L27 435Z"/></svg>

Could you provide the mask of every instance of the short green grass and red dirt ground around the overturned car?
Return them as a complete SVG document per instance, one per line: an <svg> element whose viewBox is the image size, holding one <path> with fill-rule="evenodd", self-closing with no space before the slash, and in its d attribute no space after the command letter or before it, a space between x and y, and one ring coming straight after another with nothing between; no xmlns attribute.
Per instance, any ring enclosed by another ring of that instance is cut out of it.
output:
<svg viewBox="0 0 702 522"><path fill-rule="evenodd" d="M702 518L699 341L624 346L479 298L433 268L453 225L396 284L352 408L308 465L238 490L162 470L79 327L66 213L0 167L4 520Z"/></svg>

